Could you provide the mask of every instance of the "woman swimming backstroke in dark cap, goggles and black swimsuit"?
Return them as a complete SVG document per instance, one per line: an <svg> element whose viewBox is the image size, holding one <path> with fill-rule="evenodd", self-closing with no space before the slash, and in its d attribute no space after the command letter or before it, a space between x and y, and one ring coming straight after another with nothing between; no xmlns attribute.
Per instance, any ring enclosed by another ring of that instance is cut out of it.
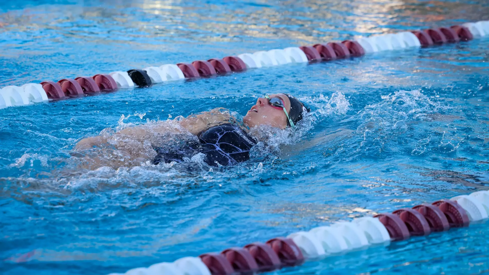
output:
<svg viewBox="0 0 489 275"><path fill-rule="evenodd" d="M148 141L149 143L157 143L152 141L158 140L158 135L168 131L175 134L187 132L195 135L199 141L187 142L183 146L184 148L177 151L151 144L156 157L151 153L132 157L138 161L152 159L153 164L158 164L160 162L180 162L183 161L184 157L188 157L186 155L195 155L200 152L205 155L204 161L208 165L231 165L249 160L249 151L258 142L257 139L249 136L250 128L268 125L282 130L288 127L295 129L296 123L307 112L309 109L294 96L278 93L259 97L256 104L246 113L242 122L237 121L228 110L216 108L210 112L189 115L186 118L179 116L173 120L177 122L177 127L173 128L168 124L160 123L162 121L158 121L156 126L152 128L145 127L146 125L133 126L112 135L84 138L76 144L75 150L111 146L115 149L124 147L128 150L127 148L131 148L132 145L127 143L132 143L133 146L144 146L141 144ZM120 152L118 154L124 155Z"/></svg>

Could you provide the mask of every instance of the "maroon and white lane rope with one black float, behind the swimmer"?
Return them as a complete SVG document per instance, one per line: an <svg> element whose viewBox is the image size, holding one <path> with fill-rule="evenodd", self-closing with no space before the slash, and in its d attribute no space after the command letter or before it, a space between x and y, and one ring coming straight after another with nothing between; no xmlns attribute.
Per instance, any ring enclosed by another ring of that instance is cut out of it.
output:
<svg viewBox="0 0 489 275"><path fill-rule="evenodd" d="M222 59L212 58L192 63L178 63L177 65L165 64L160 67L114 71L109 74L96 74L92 77L65 78L58 82L43 81L41 86L35 83L28 83L22 87L8 86L0 89L0 109L98 92L113 92L117 89L151 87L156 83L185 78L212 77L246 69L272 67L289 63L359 57L366 53L457 43L484 36L489 36L489 21L463 23L451 27L429 28L411 32L403 31L400 33L373 35L370 37L359 37L356 40L329 42L312 46L261 50L237 56L226 56Z"/></svg>

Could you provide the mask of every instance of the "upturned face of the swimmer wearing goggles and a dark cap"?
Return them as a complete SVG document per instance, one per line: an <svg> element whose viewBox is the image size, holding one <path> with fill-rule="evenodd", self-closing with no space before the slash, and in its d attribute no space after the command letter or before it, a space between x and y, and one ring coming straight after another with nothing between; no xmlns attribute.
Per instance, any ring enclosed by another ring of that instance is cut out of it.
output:
<svg viewBox="0 0 489 275"><path fill-rule="evenodd" d="M290 100L289 97L283 93L270 94L270 98L278 97L282 99L285 105L287 113L290 112ZM270 125L280 129L287 128L287 115L284 110L272 107L268 103L268 99L259 97L256 104L246 113L243 118L244 124L248 127L255 127L259 125Z"/></svg>

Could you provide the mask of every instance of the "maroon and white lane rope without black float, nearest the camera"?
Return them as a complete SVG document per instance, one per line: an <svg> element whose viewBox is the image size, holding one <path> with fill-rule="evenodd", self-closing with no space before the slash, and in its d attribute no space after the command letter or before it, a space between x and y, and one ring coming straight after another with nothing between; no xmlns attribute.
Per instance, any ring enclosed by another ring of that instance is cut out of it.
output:
<svg viewBox="0 0 489 275"><path fill-rule="evenodd" d="M426 236L451 228L467 227L471 222L487 220L489 191L455 196L431 204L401 208L392 213L336 222L309 231L298 231L266 243L252 243L199 257L184 257L173 263L163 262L149 268L135 268L124 275L245 275L269 272L373 244L410 237ZM112 273L111 275L123 275Z"/></svg>

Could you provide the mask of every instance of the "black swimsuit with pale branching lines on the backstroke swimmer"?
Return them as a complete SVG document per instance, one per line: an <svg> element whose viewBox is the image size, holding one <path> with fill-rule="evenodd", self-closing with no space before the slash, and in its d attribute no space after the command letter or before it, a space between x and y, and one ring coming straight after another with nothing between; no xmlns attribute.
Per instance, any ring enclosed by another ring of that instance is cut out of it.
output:
<svg viewBox="0 0 489 275"><path fill-rule="evenodd" d="M249 150L256 144L256 141L240 127L228 123L202 131L198 137L200 150L196 148L196 144L187 144L187 148L182 148L178 152L167 152L165 148L158 147L156 148L158 155L153 163L158 164L161 161L180 162L185 157L183 154L201 152L205 154L204 161L211 166L217 166L218 163L231 165L249 160Z"/></svg>

